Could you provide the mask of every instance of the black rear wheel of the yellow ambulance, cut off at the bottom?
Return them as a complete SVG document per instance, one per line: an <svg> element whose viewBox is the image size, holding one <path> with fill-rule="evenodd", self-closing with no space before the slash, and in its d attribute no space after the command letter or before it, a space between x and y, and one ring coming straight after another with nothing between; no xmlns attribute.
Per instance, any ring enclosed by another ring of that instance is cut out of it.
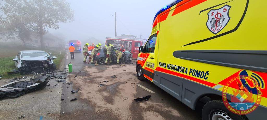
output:
<svg viewBox="0 0 267 120"><path fill-rule="evenodd" d="M204 120L247 120L245 115L237 115L229 111L222 100L207 102L202 109Z"/></svg>

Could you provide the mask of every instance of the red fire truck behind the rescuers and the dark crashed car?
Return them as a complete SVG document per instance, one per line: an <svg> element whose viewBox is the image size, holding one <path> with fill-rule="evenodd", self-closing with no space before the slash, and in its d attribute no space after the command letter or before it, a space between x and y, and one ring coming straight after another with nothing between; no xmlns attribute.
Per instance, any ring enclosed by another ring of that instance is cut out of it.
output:
<svg viewBox="0 0 267 120"><path fill-rule="evenodd" d="M139 47L143 45L143 41L133 38L111 38L106 37L106 44L111 44L114 48L120 49L121 46L124 46L126 51L132 53L133 59L137 59L139 54Z"/></svg>

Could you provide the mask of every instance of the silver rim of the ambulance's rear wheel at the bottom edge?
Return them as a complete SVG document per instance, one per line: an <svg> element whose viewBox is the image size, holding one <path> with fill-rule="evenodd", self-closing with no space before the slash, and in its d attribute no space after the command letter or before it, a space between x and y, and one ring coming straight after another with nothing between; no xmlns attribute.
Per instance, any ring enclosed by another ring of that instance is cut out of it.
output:
<svg viewBox="0 0 267 120"><path fill-rule="evenodd" d="M230 115L222 110L213 110L210 112L209 116L212 120L233 120Z"/></svg>

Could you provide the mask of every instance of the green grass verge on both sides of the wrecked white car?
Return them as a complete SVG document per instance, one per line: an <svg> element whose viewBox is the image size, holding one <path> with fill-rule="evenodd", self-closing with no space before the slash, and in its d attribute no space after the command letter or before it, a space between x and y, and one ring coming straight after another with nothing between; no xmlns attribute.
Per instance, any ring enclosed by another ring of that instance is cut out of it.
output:
<svg viewBox="0 0 267 120"><path fill-rule="evenodd" d="M59 52L59 50L44 50L46 51L48 54L49 52L52 53L53 56L56 56L57 58L54 59L54 63L56 64L57 69L60 67L60 63L62 62L62 59L64 59L65 50L61 50L61 54ZM16 55L16 54L15 54ZM14 57L15 57L14 55ZM9 79L9 78L16 78L16 77L22 77L24 75L21 75L20 73L17 74L7 74L7 72L17 69L15 67L15 63L13 61L14 57L1 57L0 59L0 76L2 76L2 78L0 79Z"/></svg>

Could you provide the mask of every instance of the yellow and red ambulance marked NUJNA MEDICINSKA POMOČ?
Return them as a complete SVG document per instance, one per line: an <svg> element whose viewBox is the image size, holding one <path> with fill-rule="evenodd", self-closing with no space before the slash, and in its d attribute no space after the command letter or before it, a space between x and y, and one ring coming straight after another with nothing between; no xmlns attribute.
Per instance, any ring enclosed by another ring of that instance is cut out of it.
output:
<svg viewBox="0 0 267 120"><path fill-rule="evenodd" d="M193 110L208 97L203 120L266 119L266 4L176 0L164 6L139 48L138 79Z"/></svg>

